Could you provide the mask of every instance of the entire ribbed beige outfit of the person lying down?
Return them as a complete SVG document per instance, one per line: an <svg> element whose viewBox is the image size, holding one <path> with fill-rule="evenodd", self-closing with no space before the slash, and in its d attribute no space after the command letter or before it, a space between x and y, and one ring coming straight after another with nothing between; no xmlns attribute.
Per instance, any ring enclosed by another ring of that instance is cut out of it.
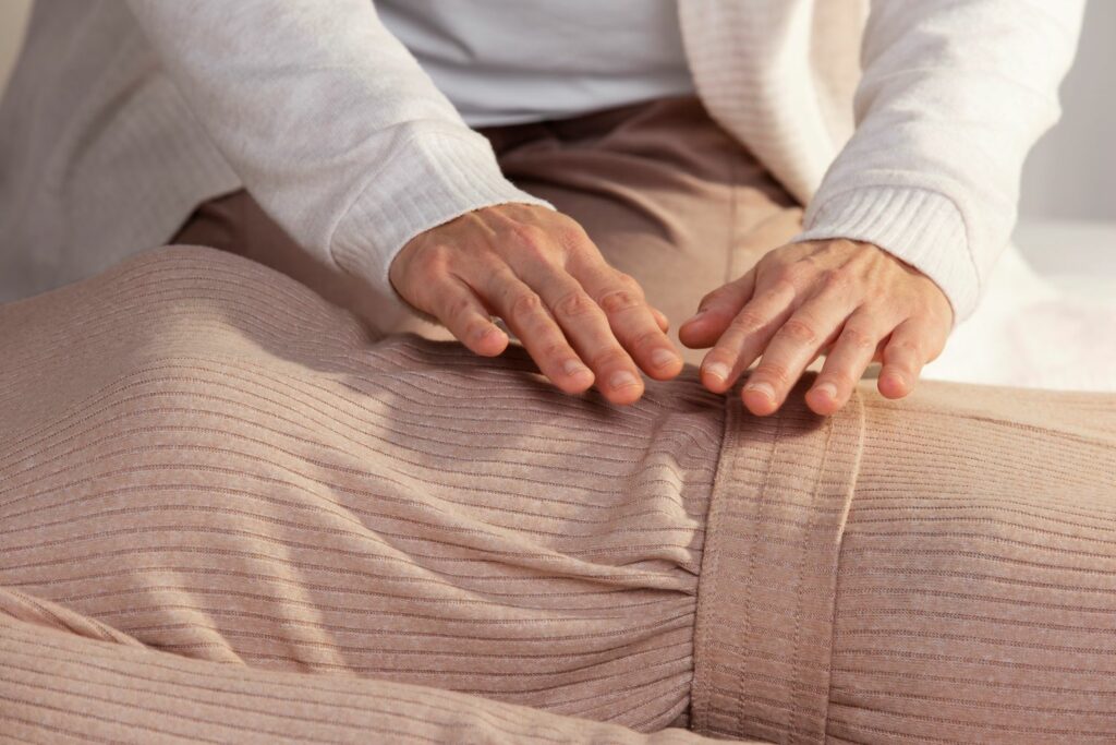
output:
<svg viewBox="0 0 1116 745"><path fill-rule="evenodd" d="M0 737L1116 737L1114 397L622 409L201 248L0 343Z"/></svg>

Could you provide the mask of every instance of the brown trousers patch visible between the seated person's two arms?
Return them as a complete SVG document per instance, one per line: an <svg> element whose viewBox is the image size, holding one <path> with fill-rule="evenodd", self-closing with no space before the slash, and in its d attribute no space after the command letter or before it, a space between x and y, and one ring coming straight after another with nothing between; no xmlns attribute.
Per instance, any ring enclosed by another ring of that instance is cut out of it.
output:
<svg viewBox="0 0 1116 745"><path fill-rule="evenodd" d="M801 209L695 97L481 132L509 179L641 283L675 341L703 295L800 230Z"/></svg>

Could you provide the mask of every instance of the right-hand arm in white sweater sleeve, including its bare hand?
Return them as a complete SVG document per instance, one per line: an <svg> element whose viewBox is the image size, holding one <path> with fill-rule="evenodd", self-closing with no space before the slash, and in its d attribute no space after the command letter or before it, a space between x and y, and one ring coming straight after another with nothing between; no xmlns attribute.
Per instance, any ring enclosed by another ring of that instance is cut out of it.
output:
<svg viewBox="0 0 1116 745"><path fill-rule="evenodd" d="M972 313L1016 220L1023 159L1059 114L1080 0L875 0L864 34L856 132L805 216L806 230L702 302L680 334L702 365L776 411L810 362L817 413L848 400L872 361L888 398L911 392Z"/></svg>

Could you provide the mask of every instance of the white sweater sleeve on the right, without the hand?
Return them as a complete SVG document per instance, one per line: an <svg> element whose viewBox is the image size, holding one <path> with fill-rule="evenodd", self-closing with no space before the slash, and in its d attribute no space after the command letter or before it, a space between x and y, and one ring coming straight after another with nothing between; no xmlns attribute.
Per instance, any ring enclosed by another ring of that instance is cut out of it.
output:
<svg viewBox="0 0 1116 745"><path fill-rule="evenodd" d="M856 131L796 240L873 242L926 274L955 321L1016 222L1027 152L1058 118L1083 0L875 0Z"/></svg>

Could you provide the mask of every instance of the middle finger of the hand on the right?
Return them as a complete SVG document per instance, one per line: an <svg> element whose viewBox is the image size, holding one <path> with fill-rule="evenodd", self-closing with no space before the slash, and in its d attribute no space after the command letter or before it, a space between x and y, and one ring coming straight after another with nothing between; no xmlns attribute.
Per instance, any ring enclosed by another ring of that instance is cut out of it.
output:
<svg viewBox="0 0 1116 745"><path fill-rule="evenodd" d="M749 411L766 417L782 405L806 366L855 309L853 297L845 290L822 293L804 303L779 327L741 391Z"/></svg>

